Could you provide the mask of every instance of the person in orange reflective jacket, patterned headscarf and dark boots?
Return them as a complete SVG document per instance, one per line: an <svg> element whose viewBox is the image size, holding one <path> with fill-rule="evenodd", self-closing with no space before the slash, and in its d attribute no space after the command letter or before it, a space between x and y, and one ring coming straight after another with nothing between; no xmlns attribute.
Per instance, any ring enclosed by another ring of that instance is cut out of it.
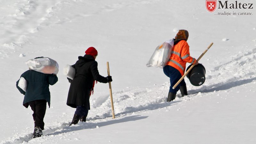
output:
<svg viewBox="0 0 256 144"><path fill-rule="evenodd" d="M197 60L192 58L189 54L189 46L187 40L188 31L184 29L179 30L175 36L174 46L172 48L170 59L168 60L166 66L163 68L164 74L170 78L171 84L167 101L174 100L179 89L182 96L188 95L187 86L184 79L175 89L172 89L172 87L184 75L187 62L195 65L198 64Z"/></svg>

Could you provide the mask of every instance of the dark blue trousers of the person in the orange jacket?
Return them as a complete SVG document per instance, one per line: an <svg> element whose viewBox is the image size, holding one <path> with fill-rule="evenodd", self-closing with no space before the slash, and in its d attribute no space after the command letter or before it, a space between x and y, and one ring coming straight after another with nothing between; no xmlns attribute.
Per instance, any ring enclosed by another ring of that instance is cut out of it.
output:
<svg viewBox="0 0 256 144"><path fill-rule="evenodd" d="M173 68L172 66L166 65L164 68L164 74L170 78L170 90L169 92L177 93L180 89L180 85L186 85L184 79L178 84L178 86L175 89L172 89L172 87L180 80L182 77L180 74L180 71L176 68Z"/></svg>

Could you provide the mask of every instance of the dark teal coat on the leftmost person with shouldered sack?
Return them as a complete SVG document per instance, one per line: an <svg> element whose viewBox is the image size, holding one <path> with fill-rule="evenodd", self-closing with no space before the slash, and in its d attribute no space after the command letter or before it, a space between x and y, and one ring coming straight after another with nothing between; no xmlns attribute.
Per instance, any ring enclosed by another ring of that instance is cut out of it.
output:
<svg viewBox="0 0 256 144"><path fill-rule="evenodd" d="M27 80L27 90L24 92L16 82L16 87L20 93L24 94L23 106L28 108L28 102L33 100L46 100L50 107L51 95L49 84L53 85L58 81L58 77L53 74L44 74L34 70L25 71L20 77Z"/></svg>

